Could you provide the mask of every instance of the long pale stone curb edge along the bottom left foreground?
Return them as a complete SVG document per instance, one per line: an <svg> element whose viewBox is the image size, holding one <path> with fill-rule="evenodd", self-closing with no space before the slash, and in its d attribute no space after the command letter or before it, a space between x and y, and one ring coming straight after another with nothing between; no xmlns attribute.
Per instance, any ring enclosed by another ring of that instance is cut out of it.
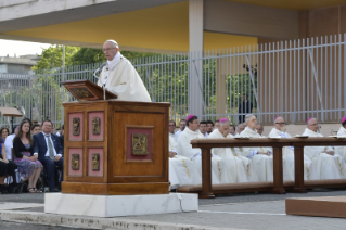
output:
<svg viewBox="0 0 346 230"><path fill-rule="evenodd" d="M12 222L28 222L36 225L61 226L85 229L115 229L115 230L230 230L230 228L215 228L206 226L170 223L146 220L129 220L121 218L92 218L43 214L37 212L1 210L0 219Z"/></svg>

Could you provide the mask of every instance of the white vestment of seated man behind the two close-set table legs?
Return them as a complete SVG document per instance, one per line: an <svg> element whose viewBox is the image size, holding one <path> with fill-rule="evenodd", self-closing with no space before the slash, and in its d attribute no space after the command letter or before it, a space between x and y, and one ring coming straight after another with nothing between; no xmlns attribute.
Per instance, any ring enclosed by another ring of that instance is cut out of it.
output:
<svg viewBox="0 0 346 230"><path fill-rule="evenodd" d="M283 132L278 130L277 128L271 129L269 133L270 138L292 138L292 136L287 132ZM282 159L283 159L283 171L286 174L286 179L294 180L294 148L293 146L284 146L282 148ZM304 179L310 179L310 170L311 170L311 159L304 155Z"/></svg>

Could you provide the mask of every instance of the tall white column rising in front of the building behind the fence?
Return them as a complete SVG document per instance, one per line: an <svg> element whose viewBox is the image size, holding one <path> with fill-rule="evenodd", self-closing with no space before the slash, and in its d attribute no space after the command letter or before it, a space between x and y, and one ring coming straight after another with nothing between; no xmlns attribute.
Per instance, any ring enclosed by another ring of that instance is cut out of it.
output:
<svg viewBox="0 0 346 230"><path fill-rule="evenodd" d="M203 0L189 0L189 113L201 116L203 115Z"/></svg>

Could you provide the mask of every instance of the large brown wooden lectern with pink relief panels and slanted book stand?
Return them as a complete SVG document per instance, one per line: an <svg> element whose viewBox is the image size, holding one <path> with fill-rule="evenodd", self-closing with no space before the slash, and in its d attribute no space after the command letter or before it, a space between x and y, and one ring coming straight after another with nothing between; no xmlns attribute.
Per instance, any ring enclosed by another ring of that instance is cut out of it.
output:
<svg viewBox="0 0 346 230"><path fill-rule="evenodd" d="M62 193L169 193L170 104L100 100L102 88L88 80L63 85L78 100L86 101L63 103ZM106 94L107 99L116 98Z"/></svg>

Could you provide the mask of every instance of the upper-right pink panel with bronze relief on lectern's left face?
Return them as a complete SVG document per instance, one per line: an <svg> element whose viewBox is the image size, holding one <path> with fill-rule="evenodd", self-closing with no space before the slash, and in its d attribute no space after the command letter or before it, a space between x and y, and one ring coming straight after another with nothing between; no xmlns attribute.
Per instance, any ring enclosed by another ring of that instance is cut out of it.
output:
<svg viewBox="0 0 346 230"><path fill-rule="evenodd" d="M104 138L104 112L88 113L88 140L103 141Z"/></svg>

